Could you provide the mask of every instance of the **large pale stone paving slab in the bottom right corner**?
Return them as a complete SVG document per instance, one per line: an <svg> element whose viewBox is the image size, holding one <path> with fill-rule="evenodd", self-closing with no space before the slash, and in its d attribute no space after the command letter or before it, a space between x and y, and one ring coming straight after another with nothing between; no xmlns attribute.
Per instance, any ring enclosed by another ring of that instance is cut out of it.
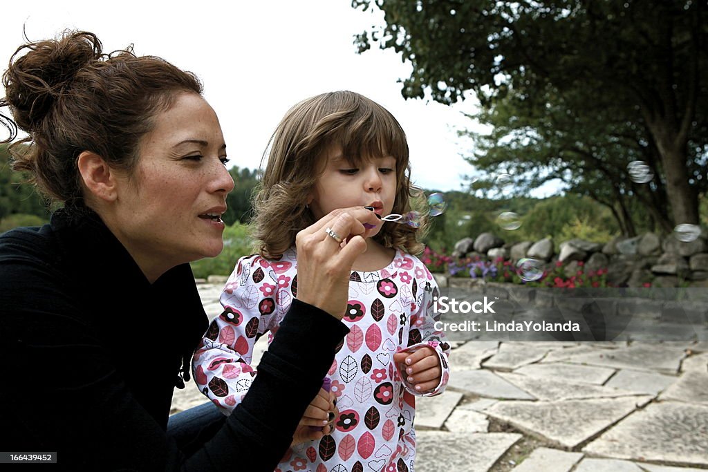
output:
<svg viewBox="0 0 708 472"><path fill-rule="evenodd" d="M590 442L583 451L616 459L706 465L707 432L707 406L652 403Z"/></svg>

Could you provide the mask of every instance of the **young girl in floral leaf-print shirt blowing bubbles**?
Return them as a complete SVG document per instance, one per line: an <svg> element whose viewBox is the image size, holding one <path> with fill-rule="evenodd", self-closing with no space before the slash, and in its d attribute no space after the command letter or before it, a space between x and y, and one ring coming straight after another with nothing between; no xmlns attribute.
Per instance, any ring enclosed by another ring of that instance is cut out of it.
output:
<svg viewBox="0 0 708 472"><path fill-rule="evenodd" d="M411 210L405 134L387 110L358 93L324 93L298 103L270 144L254 202L258 254L239 260L221 295L224 312L193 362L202 392L228 411L256 376L254 343L266 331L272 339L297 297L297 232L338 208L367 207L379 218ZM416 241L421 231L394 222L367 230L343 318L350 333L328 373L338 415L330 415L331 427L324 426L318 441L292 447L277 471L413 471L415 396L442 393L450 353L433 327L438 287L412 255L422 249ZM302 429L326 423L316 422L323 417L313 412L326 410L316 402Z"/></svg>

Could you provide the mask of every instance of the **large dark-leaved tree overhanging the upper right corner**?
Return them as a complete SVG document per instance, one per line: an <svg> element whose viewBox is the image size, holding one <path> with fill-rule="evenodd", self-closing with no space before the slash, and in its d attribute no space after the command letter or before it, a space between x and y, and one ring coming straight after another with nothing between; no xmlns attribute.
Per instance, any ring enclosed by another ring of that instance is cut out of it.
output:
<svg viewBox="0 0 708 472"><path fill-rule="evenodd" d="M371 3L354 0L353 6ZM603 105L604 118L611 110L610 122L621 125L615 134L636 127L636 146L624 142L623 149L656 157L663 190L645 197L665 193L670 214L666 221L654 214L655 221L663 228L698 223L701 167L708 160L703 1L377 0L376 6L387 24L356 42L363 52L379 41L411 62L404 97L428 91L454 103L471 91L489 110L511 92L537 117L563 100L572 115L586 117L584 125L590 116L583 108ZM582 133L578 126L573 134ZM616 174L617 168L603 164L598 171Z"/></svg>

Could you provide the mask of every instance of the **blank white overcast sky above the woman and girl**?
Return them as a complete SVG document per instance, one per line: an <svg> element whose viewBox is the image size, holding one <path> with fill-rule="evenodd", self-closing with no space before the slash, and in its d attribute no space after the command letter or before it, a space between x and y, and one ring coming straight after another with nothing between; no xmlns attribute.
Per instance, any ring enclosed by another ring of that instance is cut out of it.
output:
<svg viewBox="0 0 708 472"><path fill-rule="evenodd" d="M456 129L470 125L462 112L474 103L447 107L404 100L397 79L411 66L391 51L358 55L353 35L380 14L354 10L350 0L284 1L13 1L3 8L0 64L23 42L65 28L89 30L105 50L135 44L195 72L215 108L239 167L257 168L280 118L299 100L334 90L362 93L386 107L406 131L413 180L424 188L459 190L461 175L474 172L459 155Z"/></svg>

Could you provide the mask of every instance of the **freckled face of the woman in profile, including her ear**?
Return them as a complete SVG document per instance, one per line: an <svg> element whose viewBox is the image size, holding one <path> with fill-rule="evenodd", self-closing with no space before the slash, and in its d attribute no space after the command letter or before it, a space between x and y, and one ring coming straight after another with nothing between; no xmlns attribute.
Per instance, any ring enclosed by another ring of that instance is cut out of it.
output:
<svg viewBox="0 0 708 472"><path fill-rule="evenodd" d="M197 94L180 93L154 117L135 172L118 179L114 231L150 280L222 251L221 215L234 189L227 161L217 115Z"/></svg>

